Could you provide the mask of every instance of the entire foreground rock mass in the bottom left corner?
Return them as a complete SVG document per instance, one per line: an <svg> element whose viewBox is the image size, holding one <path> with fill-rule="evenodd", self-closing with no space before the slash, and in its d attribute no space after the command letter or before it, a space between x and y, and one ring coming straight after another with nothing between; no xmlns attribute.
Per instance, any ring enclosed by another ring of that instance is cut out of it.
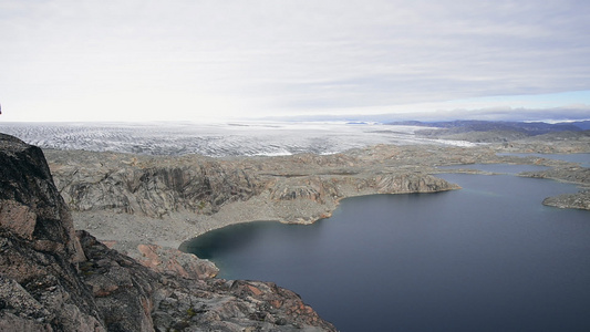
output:
<svg viewBox="0 0 590 332"><path fill-rule="evenodd" d="M210 279L189 256L156 272L74 234L42 152L1 134L0 252L0 331L334 331L272 283Z"/></svg>

